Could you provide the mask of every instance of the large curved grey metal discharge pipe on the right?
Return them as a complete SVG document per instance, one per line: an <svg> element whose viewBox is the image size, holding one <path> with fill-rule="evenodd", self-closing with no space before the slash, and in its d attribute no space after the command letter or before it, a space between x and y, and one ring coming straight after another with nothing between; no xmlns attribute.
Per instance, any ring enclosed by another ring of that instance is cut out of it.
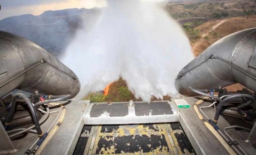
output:
<svg viewBox="0 0 256 155"><path fill-rule="evenodd" d="M185 96L198 96L188 87L214 89L241 83L256 91L255 40L256 28L251 28L216 41L179 72L176 89Z"/></svg>

